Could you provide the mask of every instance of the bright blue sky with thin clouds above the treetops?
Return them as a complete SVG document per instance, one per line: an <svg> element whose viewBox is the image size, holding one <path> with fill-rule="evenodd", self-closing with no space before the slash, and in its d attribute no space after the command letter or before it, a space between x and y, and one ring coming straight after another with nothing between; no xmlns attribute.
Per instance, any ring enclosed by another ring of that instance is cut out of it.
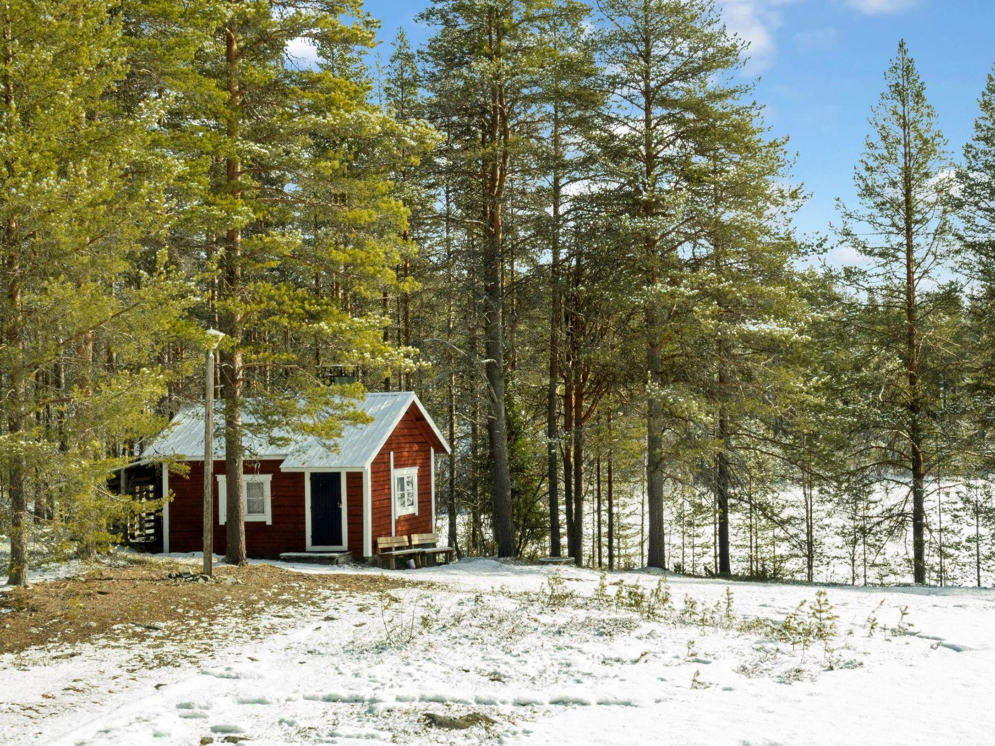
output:
<svg viewBox="0 0 995 746"><path fill-rule="evenodd" d="M413 43L425 0L367 0L389 42L399 26ZM812 196L798 216L803 233L829 232L835 198L853 201L853 166L871 106L904 38L940 125L959 154L977 98L995 65L995 0L718 0L728 27L751 44L745 73L777 135L791 137L797 180ZM388 44L381 54L390 54ZM852 258L840 250L833 258Z"/></svg>

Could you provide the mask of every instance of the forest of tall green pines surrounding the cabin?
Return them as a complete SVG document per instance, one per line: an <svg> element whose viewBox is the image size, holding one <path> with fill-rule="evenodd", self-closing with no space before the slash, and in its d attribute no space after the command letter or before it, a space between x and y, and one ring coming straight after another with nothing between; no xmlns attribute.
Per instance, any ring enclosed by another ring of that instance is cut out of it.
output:
<svg viewBox="0 0 995 746"><path fill-rule="evenodd" d="M4 3L11 583L147 507L108 475L202 400L211 327L227 470L247 412L333 439L414 390L463 554L993 582L995 76L955 151L901 43L813 239L711 2L419 20L371 56L357 0Z"/></svg>

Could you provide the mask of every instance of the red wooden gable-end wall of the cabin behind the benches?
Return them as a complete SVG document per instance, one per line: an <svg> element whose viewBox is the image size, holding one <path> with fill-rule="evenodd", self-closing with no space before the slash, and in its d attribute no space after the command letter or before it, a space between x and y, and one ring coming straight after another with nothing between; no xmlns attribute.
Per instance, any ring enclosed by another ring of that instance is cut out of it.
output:
<svg viewBox="0 0 995 746"><path fill-rule="evenodd" d="M404 536L409 533L431 533L435 530L435 526L432 525L432 443L425 432L425 426L416 419L416 413L420 419L418 408L412 405L373 460L370 469L374 543L377 536L391 535L391 452L394 454L394 468L418 466L418 514L397 516L394 534ZM374 551L376 551L375 546Z"/></svg>

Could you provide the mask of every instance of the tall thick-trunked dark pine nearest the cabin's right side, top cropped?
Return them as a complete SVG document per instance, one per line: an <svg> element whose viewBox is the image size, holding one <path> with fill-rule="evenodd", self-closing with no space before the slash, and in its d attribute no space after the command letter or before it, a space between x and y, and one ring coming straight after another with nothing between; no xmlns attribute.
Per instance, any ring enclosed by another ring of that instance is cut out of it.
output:
<svg viewBox="0 0 995 746"><path fill-rule="evenodd" d="M427 83L445 92L430 99L429 115L462 122L460 168L476 173L475 191L480 195L475 214L466 219L475 228L484 280L492 520L502 557L515 550L505 413L506 369L514 351L510 345L511 354L505 355L505 336L513 326L507 323L512 314L505 302L504 268L513 270L514 265L508 248L508 220L513 216L507 208L515 176L528 157L536 81L545 54L535 28L543 6L539 0L437 0L421 16L436 29L426 52L431 71Z"/></svg>

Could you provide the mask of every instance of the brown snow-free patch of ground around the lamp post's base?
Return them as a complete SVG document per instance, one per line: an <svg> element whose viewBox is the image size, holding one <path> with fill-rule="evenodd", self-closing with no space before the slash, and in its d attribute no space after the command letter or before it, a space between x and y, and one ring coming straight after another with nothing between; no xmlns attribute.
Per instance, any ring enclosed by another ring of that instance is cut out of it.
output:
<svg viewBox="0 0 995 746"><path fill-rule="evenodd" d="M295 627L327 609L329 598L344 602L410 585L387 575L299 573L265 564L222 566L211 583L169 577L191 570L175 560L140 558L81 578L13 589L0 595L0 654L58 659L98 639L112 647L140 641L138 647L151 653L141 656L144 665L178 664L188 658L184 653L195 657L219 643ZM217 582L226 576L227 582Z"/></svg>

